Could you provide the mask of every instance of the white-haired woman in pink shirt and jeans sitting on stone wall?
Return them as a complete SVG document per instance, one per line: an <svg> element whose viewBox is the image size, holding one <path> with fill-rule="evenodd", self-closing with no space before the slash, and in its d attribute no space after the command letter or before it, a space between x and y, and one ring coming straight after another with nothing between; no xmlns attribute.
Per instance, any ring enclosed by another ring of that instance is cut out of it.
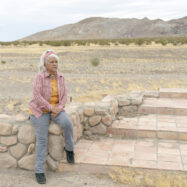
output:
<svg viewBox="0 0 187 187"><path fill-rule="evenodd" d="M33 99L29 103L30 121L36 134L35 176L40 184L46 183L44 164L48 144L50 121L64 130L67 161L74 163L73 124L64 108L67 102L67 89L64 76L57 71L59 57L53 50L45 51L40 58L40 72L33 85Z"/></svg>

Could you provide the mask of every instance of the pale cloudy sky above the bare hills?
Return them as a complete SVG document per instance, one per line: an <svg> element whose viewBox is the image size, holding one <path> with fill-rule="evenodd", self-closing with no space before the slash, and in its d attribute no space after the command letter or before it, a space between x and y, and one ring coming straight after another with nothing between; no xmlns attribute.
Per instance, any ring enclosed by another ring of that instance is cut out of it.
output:
<svg viewBox="0 0 187 187"><path fill-rule="evenodd" d="M163 19L187 16L187 0L0 0L0 41L88 17Z"/></svg>

